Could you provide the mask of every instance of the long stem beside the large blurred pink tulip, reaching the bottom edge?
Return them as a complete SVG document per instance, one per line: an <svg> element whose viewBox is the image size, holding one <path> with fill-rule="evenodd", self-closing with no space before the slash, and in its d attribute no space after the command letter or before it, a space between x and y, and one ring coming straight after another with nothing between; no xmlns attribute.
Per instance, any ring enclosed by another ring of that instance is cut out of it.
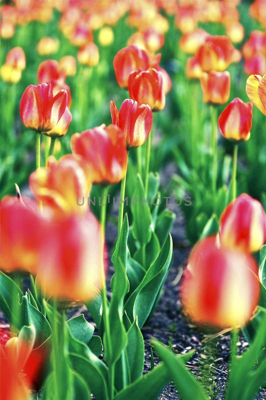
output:
<svg viewBox="0 0 266 400"><path fill-rule="evenodd" d="M110 322L109 322L109 311L108 311L108 301L107 301L107 291L105 284L105 273L104 273L104 233L105 233L105 221L106 221L106 204L105 198L107 198L106 194L108 192L108 187L103 186L103 190L101 193L101 212L100 212L100 223L101 223L101 298L103 302L103 322L104 322L104 333L103 333L103 352L105 356L105 361L108 365L109 371L109 394L110 399L113 399L113 388L114 388L114 366L111 360L111 352L112 352L112 342L111 342L111 330L110 330ZM105 340L106 338L106 340Z"/></svg>

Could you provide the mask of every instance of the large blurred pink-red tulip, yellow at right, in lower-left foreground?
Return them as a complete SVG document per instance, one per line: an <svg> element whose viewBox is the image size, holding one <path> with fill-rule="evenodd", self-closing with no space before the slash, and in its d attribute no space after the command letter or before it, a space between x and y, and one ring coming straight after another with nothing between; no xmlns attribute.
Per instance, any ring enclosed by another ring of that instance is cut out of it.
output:
<svg viewBox="0 0 266 400"><path fill-rule="evenodd" d="M91 212L53 218L43 232L38 276L50 295L87 300L101 288L102 230ZM56 246L55 246L56 243Z"/></svg>

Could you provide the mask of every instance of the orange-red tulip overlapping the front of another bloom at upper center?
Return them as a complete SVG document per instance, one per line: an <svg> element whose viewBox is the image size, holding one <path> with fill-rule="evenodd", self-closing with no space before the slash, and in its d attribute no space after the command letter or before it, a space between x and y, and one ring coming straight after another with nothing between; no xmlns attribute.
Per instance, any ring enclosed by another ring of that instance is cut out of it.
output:
<svg viewBox="0 0 266 400"><path fill-rule="evenodd" d="M155 68L133 71L128 79L129 96L139 104L149 104L153 111L165 107L163 74Z"/></svg>

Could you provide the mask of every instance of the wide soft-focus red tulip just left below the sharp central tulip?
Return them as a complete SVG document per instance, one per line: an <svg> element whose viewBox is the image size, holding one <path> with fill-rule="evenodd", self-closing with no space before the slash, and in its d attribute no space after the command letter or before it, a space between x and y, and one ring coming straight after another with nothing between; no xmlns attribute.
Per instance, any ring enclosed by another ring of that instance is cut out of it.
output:
<svg viewBox="0 0 266 400"><path fill-rule="evenodd" d="M92 183L114 184L127 170L125 139L117 126L97 126L71 136L71 150L81 156Z"/></svg>

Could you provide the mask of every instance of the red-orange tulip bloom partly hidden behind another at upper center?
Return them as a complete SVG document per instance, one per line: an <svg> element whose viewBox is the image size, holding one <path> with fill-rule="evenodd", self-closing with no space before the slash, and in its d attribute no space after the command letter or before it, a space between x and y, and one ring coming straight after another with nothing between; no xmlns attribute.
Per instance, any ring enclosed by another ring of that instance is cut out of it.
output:
<svg viewBox="0 0 266 400"><path fill-rule="evenodd" d="M143 70L149 68L149 55L145 50L141 50L137 46L127 46L119 50L115 55L113 68L117 83L121 88L126 89L131 72L140 68Z"/></svg>

